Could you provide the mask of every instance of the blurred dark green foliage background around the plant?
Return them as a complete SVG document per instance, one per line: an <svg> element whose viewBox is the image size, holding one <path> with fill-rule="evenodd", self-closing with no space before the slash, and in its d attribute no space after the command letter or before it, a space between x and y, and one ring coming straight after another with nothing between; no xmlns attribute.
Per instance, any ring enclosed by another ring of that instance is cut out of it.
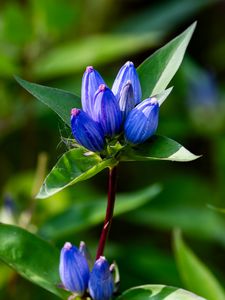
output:
<svg viewBox="0 0 225 300"><path fill-rule="evenodd" d="M119 265L121 291L145 283L185 287L171 245L173 229L180 228L224 285L224 215L211 208L225 207L224 14L225 2L213 0L1 0L0 222L26 227L59 248L67 240L85 240L94 256L102 216L91 219L92 210L82 205L106 198L107 190L102 172L35 200L44 175L67 150L62 137L70 133L13 75L80 94L85 67L93 65L110 86L127 60L138 66L198 20L161 107L158 133L203 156L190 163L121 164L118 193L154 183L162 190L115 217L106 256ZM71 211L74 224L64 228ZM56 299L0 264L0 298L18 295Z"/></svg>

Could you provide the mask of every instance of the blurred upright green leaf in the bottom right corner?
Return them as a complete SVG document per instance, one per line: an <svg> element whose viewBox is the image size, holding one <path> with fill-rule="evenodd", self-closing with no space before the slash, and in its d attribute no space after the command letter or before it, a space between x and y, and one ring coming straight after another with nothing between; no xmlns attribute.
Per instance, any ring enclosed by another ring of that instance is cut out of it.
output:
<svg viewBox="0 0 225 300"><path fill-rule="evenodd" d="M179 230L174 233L174 251L177 266L185 286L207 300L225 299L225 291L220 283L184 243Z"/></svg>

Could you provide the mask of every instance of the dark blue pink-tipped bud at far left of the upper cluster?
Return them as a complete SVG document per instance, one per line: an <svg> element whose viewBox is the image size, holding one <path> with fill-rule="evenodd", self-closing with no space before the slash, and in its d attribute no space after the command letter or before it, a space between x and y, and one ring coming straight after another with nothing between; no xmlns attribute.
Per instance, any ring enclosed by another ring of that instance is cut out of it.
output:
<svg viewBox="0 0 225 300"><path fill-rule="evenodd" d="M93 121L84 111L71 110L71 128L75 140L91 151L101 151L105 140L103 130L98 122Z"/></svg>

